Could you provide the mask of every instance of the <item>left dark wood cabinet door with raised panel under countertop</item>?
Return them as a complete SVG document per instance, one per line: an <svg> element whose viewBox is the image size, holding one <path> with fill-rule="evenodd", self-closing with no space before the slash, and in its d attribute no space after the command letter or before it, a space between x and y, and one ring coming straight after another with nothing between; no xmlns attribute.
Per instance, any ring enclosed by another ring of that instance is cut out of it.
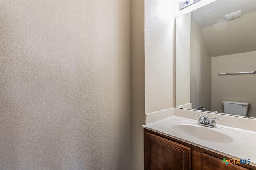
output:
<svg viewBox="0 0 256 170"><path fill-rule="evenodd" d="M146 132L145 170L190 170L191 148Z"/></svg>

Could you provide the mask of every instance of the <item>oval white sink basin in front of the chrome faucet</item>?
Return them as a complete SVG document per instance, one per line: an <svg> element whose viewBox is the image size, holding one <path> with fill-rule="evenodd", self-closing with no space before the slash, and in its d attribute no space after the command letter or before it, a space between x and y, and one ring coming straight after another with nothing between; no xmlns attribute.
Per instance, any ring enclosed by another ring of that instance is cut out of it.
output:
<svg viewBox="0 0 256 170"><path fill-rule="evenodd" d="M210 128L197 125L196 122L192 121L170 121L165 126L176 133L208 142L222 144L239 142L241 144L247 141L247 138L242 134L218 127L218 125L218 128Z"/></svg>

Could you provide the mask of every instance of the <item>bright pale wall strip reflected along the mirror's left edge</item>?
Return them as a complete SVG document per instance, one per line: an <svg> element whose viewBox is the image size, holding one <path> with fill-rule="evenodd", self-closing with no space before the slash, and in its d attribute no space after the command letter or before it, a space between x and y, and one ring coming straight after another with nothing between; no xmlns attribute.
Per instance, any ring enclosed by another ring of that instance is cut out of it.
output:
<svg viewBox="0 0 256 170"><path fill-rule="evenodd" d="M190 13L182 15L175 20L176 107L190 103L190 23Z"/></svg>

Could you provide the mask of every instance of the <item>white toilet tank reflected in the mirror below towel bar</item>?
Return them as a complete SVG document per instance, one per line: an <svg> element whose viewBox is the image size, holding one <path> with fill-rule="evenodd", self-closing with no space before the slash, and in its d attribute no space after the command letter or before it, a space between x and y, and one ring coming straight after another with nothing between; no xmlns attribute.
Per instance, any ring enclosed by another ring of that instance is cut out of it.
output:
<svg viewBox="0 0 256 170"><path fill-rule="evenodd" d="M224 113L232 115L246 116L249 109L248 102L223 101Z"/></svg>

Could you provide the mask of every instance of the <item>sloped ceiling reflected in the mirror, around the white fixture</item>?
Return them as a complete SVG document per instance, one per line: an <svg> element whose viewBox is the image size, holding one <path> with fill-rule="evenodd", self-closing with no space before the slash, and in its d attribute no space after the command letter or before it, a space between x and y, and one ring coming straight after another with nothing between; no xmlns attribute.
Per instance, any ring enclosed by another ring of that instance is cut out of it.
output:
<svg viewBox="0 0 256 170"><path fill-rule="evenodd" d="M224 16L242 10L243 16ZM211 57L256 51L256 1L217 0L191 12L203 30Z"/></svg>

